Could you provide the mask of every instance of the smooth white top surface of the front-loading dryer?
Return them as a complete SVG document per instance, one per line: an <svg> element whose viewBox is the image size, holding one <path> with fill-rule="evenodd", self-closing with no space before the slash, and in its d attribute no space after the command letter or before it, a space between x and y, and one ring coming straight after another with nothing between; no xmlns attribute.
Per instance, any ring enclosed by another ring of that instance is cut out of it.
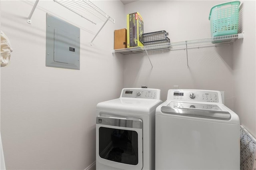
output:
<svg viewBox="0 0 256 170"><path fill-rule="evenodd" d="M97 109L125 113L150 114L162 103L156 99L123 99L118 98L98 103Z"/></svg>

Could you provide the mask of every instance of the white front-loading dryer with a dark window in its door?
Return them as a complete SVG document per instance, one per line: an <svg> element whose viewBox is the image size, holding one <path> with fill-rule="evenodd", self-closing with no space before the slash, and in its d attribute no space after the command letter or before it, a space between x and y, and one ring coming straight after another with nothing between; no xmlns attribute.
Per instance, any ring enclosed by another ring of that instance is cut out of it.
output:
<svg viewBox="0 0 256 170"><path fill-rule="evenodd" d="M96 170L154 170L155 112L160 90L122 89L97 105Z"/></svg>

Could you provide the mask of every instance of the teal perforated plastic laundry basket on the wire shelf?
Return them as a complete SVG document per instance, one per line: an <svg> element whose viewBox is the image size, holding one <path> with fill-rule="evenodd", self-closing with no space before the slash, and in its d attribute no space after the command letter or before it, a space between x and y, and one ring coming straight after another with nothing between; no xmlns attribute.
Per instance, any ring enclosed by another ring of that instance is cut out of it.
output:
<svg viewBox="0 0 256 170"><path fill-rule="evenodd" d="M238 33L240 1L215 5L210 10L211 36L226 36Z"/></svg>

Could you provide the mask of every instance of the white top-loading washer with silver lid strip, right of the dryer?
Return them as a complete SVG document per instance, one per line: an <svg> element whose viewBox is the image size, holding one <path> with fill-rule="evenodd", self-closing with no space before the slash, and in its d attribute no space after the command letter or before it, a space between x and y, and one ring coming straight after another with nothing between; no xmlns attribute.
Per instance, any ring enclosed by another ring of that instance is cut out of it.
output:
<svg viewBox="0 0 256 170"><path fill-rule="evenodd" d="M171 89L156 109L156 170L240 170L239 138L219 91Z"/></svg>

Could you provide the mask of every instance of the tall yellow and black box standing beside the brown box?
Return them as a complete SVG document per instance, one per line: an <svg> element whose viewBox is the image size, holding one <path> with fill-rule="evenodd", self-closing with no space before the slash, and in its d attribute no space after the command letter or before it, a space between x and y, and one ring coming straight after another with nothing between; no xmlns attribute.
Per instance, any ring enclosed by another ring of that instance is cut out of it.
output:
<svg viewBox="0 0 256 170"><path fill-rule="evenodd" d="M143 46L143 19L138 12L127 15L127 47Z"/></svg>

